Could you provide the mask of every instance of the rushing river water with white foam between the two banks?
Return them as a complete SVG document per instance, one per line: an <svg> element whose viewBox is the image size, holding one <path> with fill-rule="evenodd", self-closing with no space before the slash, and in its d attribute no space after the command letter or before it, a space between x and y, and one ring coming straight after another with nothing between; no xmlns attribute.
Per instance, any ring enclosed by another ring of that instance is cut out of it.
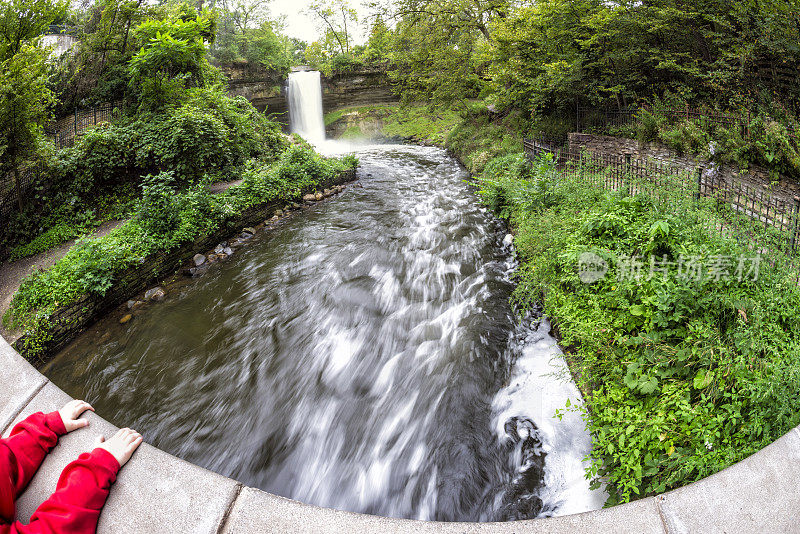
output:
<svg viewBox="0 0 800 534"><path fill-rule="evenodd" d="M370 514L596 509L591 441L546 320L509 305L502 224L437 148L357 150L360 181L45 369L153 445ZM504 242L505 241L505 242Z"/></svg>

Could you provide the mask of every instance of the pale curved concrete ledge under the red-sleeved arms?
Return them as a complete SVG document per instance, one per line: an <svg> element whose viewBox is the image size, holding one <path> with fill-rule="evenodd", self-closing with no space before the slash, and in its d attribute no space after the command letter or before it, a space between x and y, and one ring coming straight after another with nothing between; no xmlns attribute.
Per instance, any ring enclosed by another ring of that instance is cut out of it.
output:
<svg viewBox="0 0 800 534"><path fill-rule="evenodd" d="M0 432L70 397L0 338ZM143 399L146 401L147 399ZM17 503L27 522L64 466L111 423L89 414L88 430L61 438ZM800 430L746 460L681 489L614 508L514 523L434 523L319 508L284 499L142 445L120 472L100 516L100 534L185 533L666 533L798 532Z"/></svg>

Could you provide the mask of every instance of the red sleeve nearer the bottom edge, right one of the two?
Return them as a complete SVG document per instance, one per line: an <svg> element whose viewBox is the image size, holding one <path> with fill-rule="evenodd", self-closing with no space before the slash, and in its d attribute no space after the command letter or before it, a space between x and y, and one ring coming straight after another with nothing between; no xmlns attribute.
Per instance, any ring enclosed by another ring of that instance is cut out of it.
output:
<svg viewBox="0 0 800 534"><path fill-rule="evenodd" d="M100 511L117 478L119 463L105 449L81 454L64 468L56 492L36 509L31 522L9 534L94 534ZM6 534L0 527L0 534Z"/></svg>

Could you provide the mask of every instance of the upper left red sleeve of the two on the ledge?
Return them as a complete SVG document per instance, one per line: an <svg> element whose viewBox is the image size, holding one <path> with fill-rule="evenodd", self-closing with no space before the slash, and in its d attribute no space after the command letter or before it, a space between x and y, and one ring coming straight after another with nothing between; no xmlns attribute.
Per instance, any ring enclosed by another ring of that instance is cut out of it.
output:
<svg viewBox="0 0 800 534"><path fill-rule="evenodd" d="M58 412L39 412L18 423L8 438L0 440L0 473L11 475L13 499L28 486L44 457L67 433Z"/></svg>

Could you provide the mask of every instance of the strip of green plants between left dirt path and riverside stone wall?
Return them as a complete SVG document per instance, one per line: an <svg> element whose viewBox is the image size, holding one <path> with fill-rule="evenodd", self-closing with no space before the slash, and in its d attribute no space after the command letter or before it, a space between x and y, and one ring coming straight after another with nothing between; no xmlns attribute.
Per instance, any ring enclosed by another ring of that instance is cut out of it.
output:
<svg viewBox="0 0 800 534"><path fill-rule="evenodd" d="M136 216L104 237L78 241L52 268L26 278L4 319L44 335L43 318L84 294L104 294L130 265L207 236L249 207L297 199L357 164L352 157L324 159L307 145L294 145L273 164L250 160L243 182L218 195L203 184L181 190L172 171L148 175Z"/></svg>

